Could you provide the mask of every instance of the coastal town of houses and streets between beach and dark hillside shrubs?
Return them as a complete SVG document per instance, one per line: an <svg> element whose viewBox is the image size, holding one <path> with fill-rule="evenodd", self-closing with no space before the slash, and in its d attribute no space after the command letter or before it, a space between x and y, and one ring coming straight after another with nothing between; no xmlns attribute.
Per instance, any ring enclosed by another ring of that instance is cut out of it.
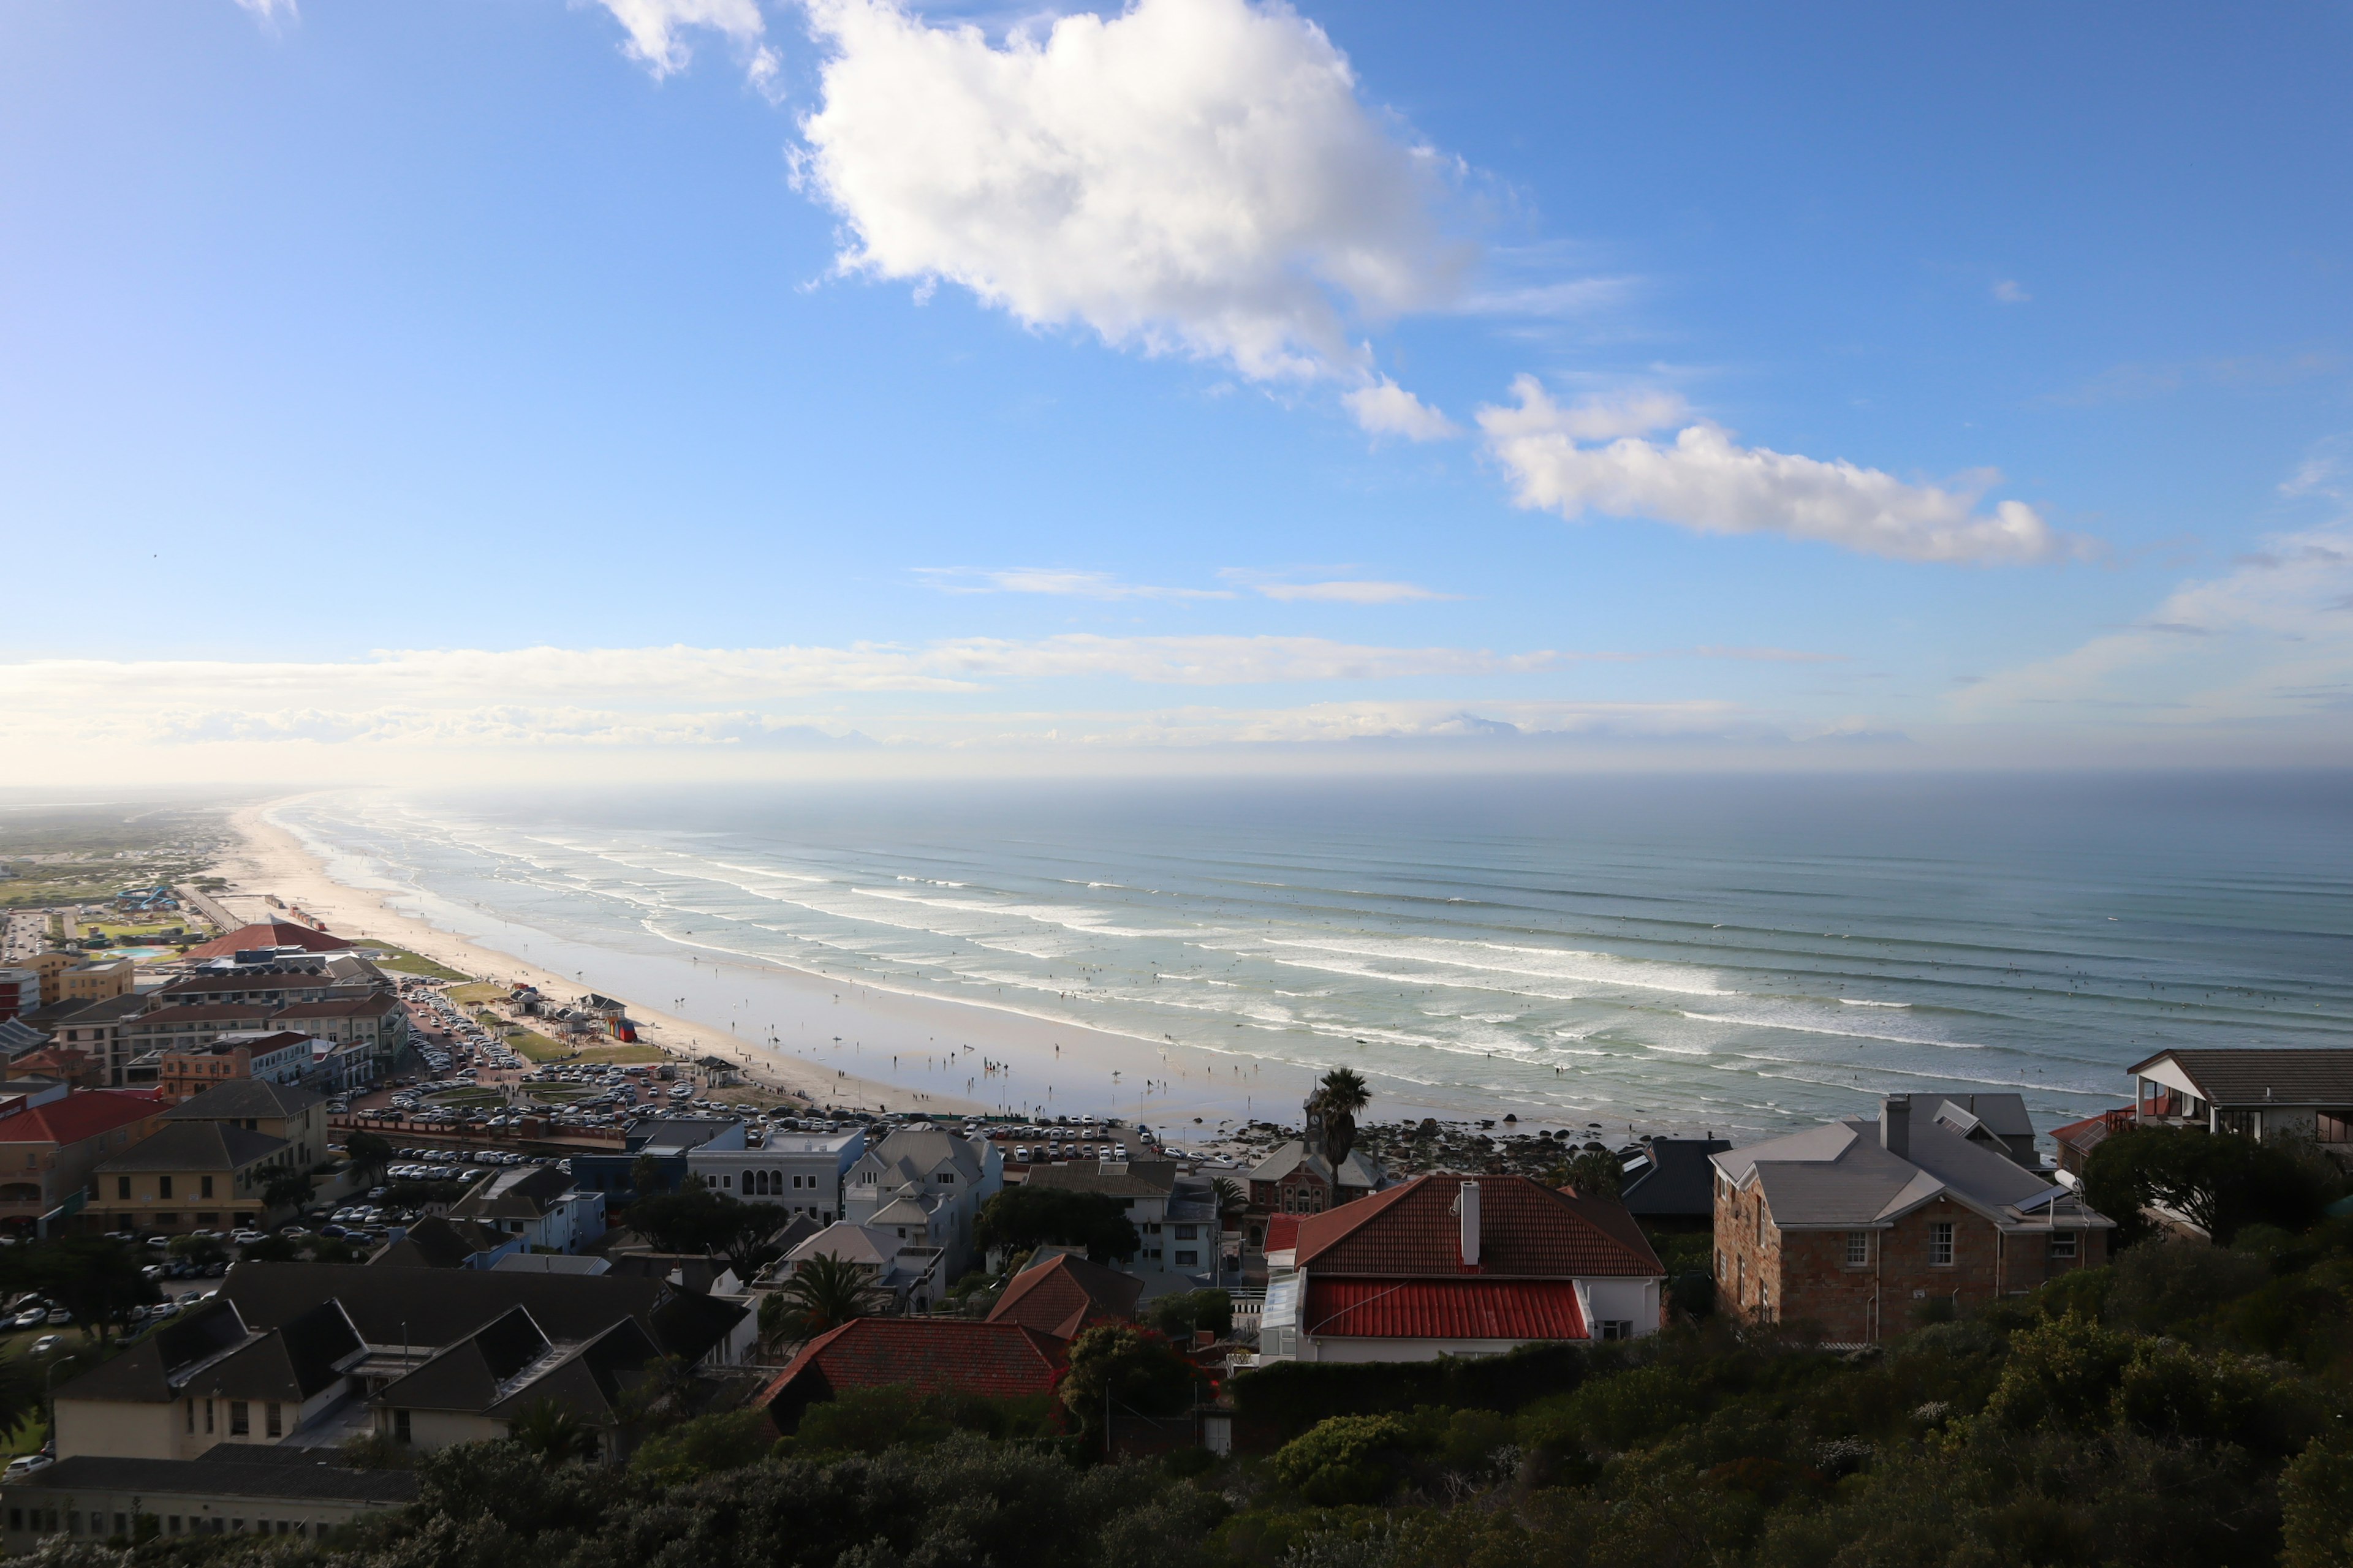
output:
<svg viewBox="0 0 2353 1568"><path fill-rule="evenodd" d="M1282 1446L1252 1389L1285 1368L1595 1356L1694 1324L1868 1356L2106 1276L2120 1222L2224 1239L2177 1187L2094 1206L2125 1133L2353 1152L2353 1051L2257 1046L2137 1063L2118 1110L2066 1126L1922 1086L1741 1147L1360 1124L1344 1067L1294 1121L1214 1143L889 1112L649 1046L593 990L264 910L141 886L7 917L0 1274L12 1366L40 1373L0 1479L12 1554L322 1542L414 1505L438 1450L551 1429L626 1469L692 1422L1035 1415L1113 1349L1136 1392L1080 1410L1085 1443L1212 1460Z"/></svg>

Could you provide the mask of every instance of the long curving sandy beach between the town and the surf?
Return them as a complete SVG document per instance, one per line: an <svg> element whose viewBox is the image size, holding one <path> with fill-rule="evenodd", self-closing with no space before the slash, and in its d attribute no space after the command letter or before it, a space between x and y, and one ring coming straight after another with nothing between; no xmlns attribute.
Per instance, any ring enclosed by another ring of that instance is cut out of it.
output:
<svg viewBox="0 0 2353 1568"><path fill-rule="evenodd" d="M1115 1114L1209 1143L1247 1117L1287 1121L1306 1074L1240 1065L1120 1034L852 985L734 954L647 959L485 919L478 931L421 917L426 900L351 886L271 820L278 804L231 816L238 844L214 867L221 903L252 919L266 896L336 936L376 938L482 980L522 980L560 999L621 997L647 1044L720 1056L816 1105L864 1110ZM400 905L412 905L402 910ZM1292 1079L1299 1079L1297 1084Z"/></svg>

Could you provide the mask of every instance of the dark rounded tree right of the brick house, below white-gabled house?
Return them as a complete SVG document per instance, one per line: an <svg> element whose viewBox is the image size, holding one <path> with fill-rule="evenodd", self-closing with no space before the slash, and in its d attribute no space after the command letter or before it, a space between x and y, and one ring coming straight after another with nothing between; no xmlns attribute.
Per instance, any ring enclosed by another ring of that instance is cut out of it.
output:
<svg viewBox="0 0 2353 1568"><path fill-rule="evenodd" d="M2085 1164L2082 1194L2127 1232L2148 1232L2141 1208L2174 1211L2219 1246L2245 1225L2304 1229L2320 1218L2332 1178L2278 1143L2186 1126L2127 1126Z"/></svg>

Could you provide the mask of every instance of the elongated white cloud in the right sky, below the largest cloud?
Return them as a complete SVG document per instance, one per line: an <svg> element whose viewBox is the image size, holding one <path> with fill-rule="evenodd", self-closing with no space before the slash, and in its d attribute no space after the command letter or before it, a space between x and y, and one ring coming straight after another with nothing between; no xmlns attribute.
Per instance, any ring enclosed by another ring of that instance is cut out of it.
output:
<svg viewBox="0 0 2353 1568"><path fill-rule="evenodd" d="M2089 555L2024 501L1977 510L1967 489L1906 484L1878 468L1739 447L1713 423L1673 442L1638 433L1673 423L1664 397L1562 409L1534 376L1513 381L1518 407L1482 407L1487 451L1511 473L1518 503L1562 517L1652 517L1699 534L1786 534L1864 555L1981 567ZM1602 442L1602 444L1581 444Z"/></svg>

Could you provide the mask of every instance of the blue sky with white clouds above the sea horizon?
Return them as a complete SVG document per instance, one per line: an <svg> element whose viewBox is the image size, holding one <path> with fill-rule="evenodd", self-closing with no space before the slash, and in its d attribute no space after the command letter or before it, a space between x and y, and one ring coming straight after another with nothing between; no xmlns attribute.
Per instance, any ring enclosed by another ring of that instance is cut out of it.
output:
<svg viewBox="0 0 2353 1568"><path fill-rule="evenodd" d="M2341 766L2348 42L0 0L0 748Z"/></svg>

